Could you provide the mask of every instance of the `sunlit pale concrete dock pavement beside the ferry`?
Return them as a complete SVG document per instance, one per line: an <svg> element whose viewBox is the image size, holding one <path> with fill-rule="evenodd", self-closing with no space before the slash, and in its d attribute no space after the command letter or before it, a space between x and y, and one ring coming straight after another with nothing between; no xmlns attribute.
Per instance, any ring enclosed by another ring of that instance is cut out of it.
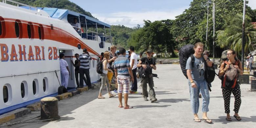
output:
<svg viewBox="0 0 256 128"><path fill-rule="evenodd" d="M194 122L191 111L189 88L187 79L181 73L180 65L157 65L159 79L154 79L156 96L158 101L151 103L143 101L138 89L138 94L130 94L128 104L133 109L124 110L118 108L118 97L97 99L98 90L90 90L78 96L58 102L61 118L52 122L33 122L13 125L19 128L193 128L193 127L250 127L255 128L256 122L256 92L249 92L250 85L242 84L242 105L239 115L242 121L225 120L224 100L221 93L221 81L216 77L212 83L210 92L210 105L208 117L212 124L206 122ZM140 85L140 84L139 84ZM104 90L106 94L106 90ZM107 97L108 95L104 95ZM199 116L202 119L200 99ZM234 114L234 97L231 97L231 115ZM40 115L33 112L30 115L16 119L15 121L29 119Z"/></svg>

